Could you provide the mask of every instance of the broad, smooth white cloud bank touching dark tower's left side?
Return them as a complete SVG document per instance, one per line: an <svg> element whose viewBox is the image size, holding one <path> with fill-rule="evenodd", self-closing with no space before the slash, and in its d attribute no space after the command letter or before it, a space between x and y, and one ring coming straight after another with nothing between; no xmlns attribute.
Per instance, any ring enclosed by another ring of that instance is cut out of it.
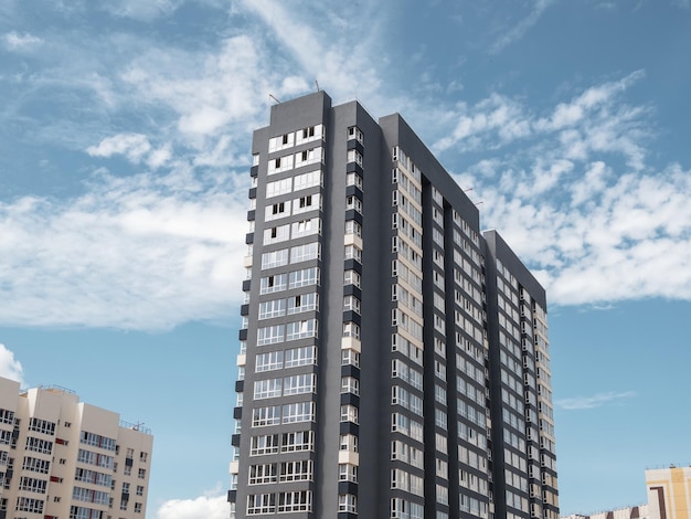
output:
<svg viewBox="0 0 691 519"><path fill-rule="evenodd" d="M0 203L0 324L168 329L238 297L248 182L102 173L83 195Z"/></svg>

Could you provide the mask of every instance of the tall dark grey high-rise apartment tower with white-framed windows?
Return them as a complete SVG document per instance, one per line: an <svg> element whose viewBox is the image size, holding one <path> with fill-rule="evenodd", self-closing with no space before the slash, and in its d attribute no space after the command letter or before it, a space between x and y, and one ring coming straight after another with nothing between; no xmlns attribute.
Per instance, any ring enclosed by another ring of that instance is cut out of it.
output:
<svg viewBox="0 0 691 519"><path fill-rule="evenodd" d="M252 152L232 517L559 517L544 289L403 118Z"/></svg>

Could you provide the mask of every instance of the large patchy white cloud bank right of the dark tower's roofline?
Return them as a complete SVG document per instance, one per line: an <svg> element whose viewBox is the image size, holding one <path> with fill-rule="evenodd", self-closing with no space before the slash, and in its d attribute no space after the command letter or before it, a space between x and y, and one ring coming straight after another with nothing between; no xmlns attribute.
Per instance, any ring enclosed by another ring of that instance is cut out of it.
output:
<svg viewBox="0 0 691 519"><path fill-rule="evenodd" d="M642 77L586 88L544 117L497 96L460 106L459 120L471 123L436 145L459 161L492 149L457 180L474 188L483 225L538 273L552 304L691 299L691 171L647 163L650 110L623 99ZM487 123L509 105L503 113L530 127L515 142Z"/></svg>

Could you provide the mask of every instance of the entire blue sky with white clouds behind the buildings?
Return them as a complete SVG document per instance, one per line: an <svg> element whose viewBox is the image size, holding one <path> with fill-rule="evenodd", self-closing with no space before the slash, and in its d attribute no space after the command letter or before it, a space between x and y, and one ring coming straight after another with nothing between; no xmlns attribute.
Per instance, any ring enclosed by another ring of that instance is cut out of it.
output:
<svg viewBox="0 0 691 519"><path fill-rule="evenodd" d="M156 435L225 517L252 129L400 112L548 288L562 511L688 463L689 0L0 2L0 372Z"/></svg>

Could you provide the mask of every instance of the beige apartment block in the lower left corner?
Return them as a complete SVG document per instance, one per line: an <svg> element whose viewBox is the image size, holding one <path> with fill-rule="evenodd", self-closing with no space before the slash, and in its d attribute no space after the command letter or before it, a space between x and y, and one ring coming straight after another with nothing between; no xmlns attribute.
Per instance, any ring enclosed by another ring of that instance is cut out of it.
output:
<svg viewBox="0 0 691 519"><path fill-rule="evenodd" d="M143 519L152 444L70 390L0 378L0 519Z"/></svg>

